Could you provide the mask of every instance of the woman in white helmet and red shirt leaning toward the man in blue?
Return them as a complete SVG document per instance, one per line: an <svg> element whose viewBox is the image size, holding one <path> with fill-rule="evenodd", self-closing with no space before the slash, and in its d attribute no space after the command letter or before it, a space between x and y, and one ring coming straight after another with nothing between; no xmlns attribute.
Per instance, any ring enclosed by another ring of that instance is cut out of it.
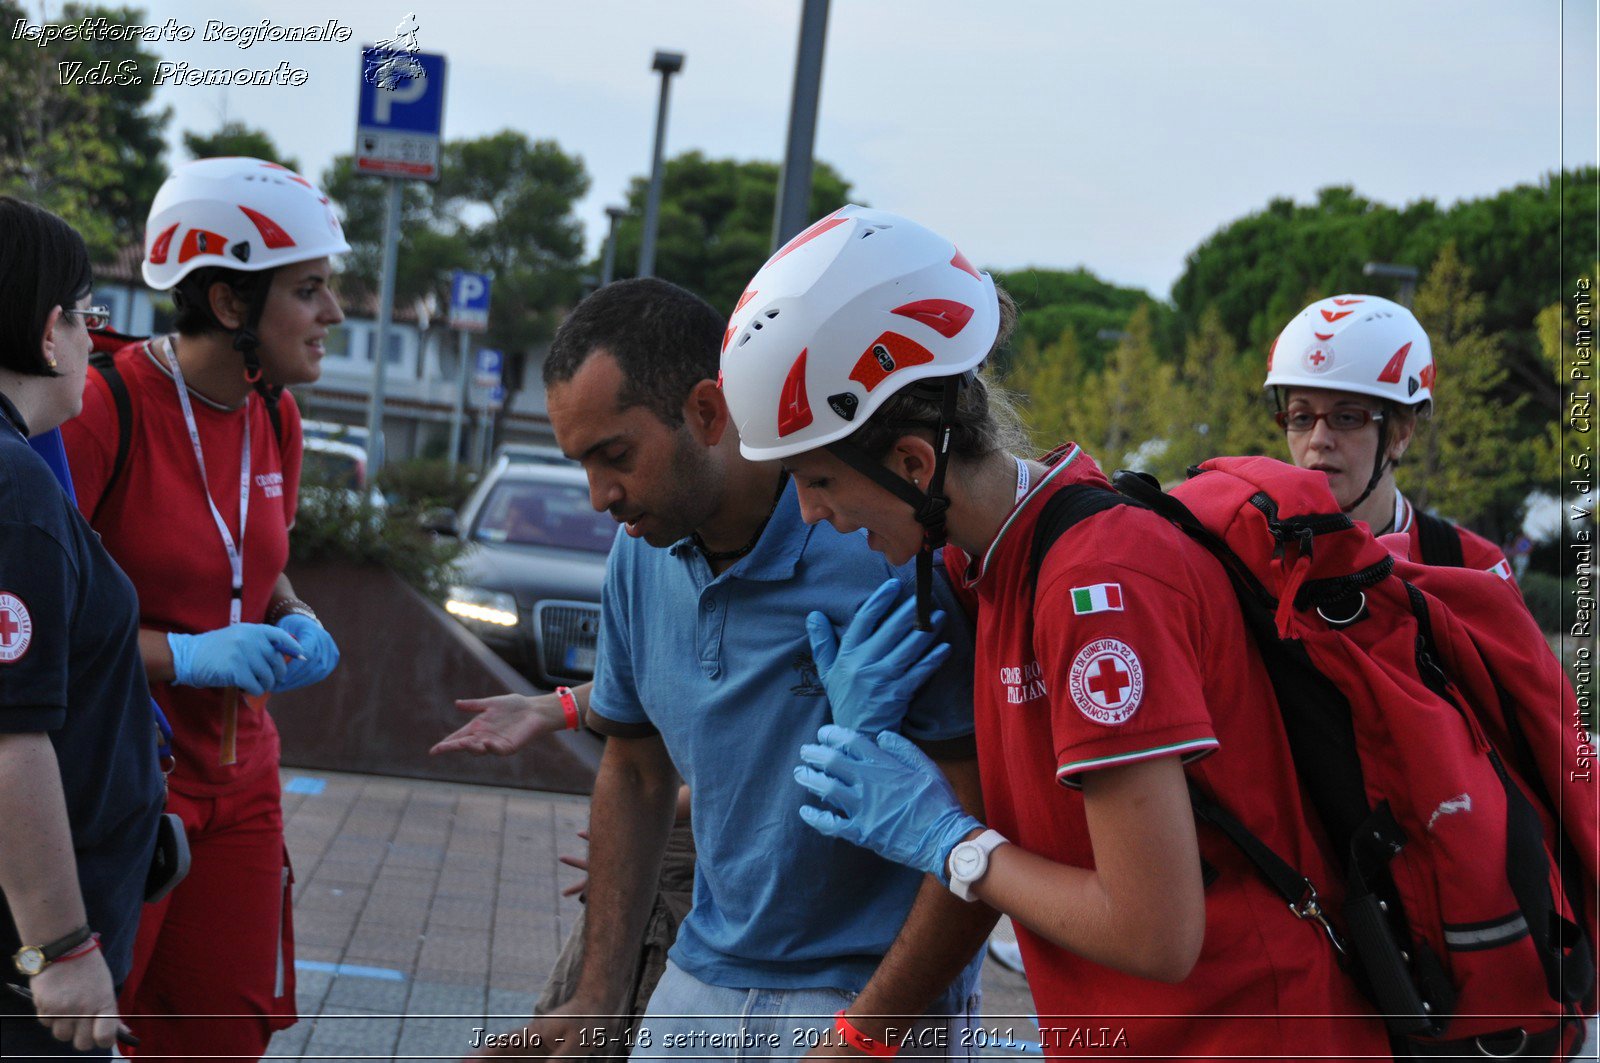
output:
<svg viewBox="0 0 1600 1063"><path fill-rule="evenodd" d="M1008 453L976 373L1006 331L1002 307L942 237L846 207L773 256L730 322L723 387L746 456L782 459L806 520L866 527L891 560L947 536L976 608L990 829L898 735L837 727L802 752L795 778L824 805L800 815L1013 916L1048 1055L1387 1055L1318 930L1195 826L1192 762L1222 805L1283 810L1269 844L1326 868L1214 559L1118 506L1050 549L1035 604L1045 501L1109 485L1074 445ZM1085 1037L1058 1015L1117 1018Z"/></svg>

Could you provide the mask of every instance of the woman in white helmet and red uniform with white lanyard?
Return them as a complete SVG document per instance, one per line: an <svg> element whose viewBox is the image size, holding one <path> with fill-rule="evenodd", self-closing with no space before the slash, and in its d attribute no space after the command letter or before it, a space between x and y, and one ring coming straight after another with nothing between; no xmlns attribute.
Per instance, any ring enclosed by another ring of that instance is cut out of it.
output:
<svg viewBox="0 0 1600 1063"><path fill-rule="evenodd" d="M283 575L301 467L283 387L322 373L344 320L330 259L349 250L328 199L283 166L179 166L144 242L176 331L90 373L64 426L78 506L139 592L139 648L176 730L168 810L192 871L144 909L122 1001L150 1055L253 1058L294 1021L266 696L326 677L339 650Z"/></svg>

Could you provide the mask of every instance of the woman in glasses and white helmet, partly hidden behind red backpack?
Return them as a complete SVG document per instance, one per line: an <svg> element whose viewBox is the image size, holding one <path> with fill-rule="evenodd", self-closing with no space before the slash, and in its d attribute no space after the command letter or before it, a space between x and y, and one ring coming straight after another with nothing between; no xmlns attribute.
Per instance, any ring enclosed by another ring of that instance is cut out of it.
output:
<svg viewBox="0 0 1600 1063"><path fill-rule="evenodd" d="M1328 475L1344 512L1373 535L1411 538L1411 559L1485 568L1515 583L1506 556L1480 535L1419 512L1395 469L1432 413L1434 351L1411 311L1371 295L1318 299L1272 343L1267 381L1278 427L1302 469Z"/></svg>

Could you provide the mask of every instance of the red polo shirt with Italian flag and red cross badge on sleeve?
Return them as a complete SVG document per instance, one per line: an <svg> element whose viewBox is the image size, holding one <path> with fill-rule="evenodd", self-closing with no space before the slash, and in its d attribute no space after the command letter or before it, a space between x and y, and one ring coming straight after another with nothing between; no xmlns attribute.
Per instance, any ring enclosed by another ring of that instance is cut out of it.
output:
<svg viewBox="0 0 1600 1063"><path fill-rule="evenodd" d="M966 572L978 602L974 712L990 826L1030 852L1091 868L1078 778L1178 756L1325 898L1334 893L1272 687L1227 576L1203 548L1155 514L1120 506L1056 543L1030 605L1029 556L1045 499L1069 483L1107 485L1077 447L1051 459L976 565L954 549L946 559L952 573ZM1206 889L1200 961L1182 983L1115 972L1018 925L1045 1052L1104 1053L1120 1031L1112 1050L1139 1057L1387 1057L1382 1025L1317 925L1296 919L1227 839L1203 824L1198 834L1219 874Z"/></svg>

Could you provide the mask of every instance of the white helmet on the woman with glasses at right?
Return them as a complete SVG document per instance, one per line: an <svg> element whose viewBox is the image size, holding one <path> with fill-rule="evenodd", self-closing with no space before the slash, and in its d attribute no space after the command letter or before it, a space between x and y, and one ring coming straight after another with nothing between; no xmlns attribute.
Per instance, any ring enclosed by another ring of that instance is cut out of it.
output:
<svg viewBox="0 0 1600 1063"><path fill-rule="evenodd" d="M1374 295L1318 299L1283 327L1262 387L1325 387L1432 405L1434 347L1398 303Z"/></svg>

